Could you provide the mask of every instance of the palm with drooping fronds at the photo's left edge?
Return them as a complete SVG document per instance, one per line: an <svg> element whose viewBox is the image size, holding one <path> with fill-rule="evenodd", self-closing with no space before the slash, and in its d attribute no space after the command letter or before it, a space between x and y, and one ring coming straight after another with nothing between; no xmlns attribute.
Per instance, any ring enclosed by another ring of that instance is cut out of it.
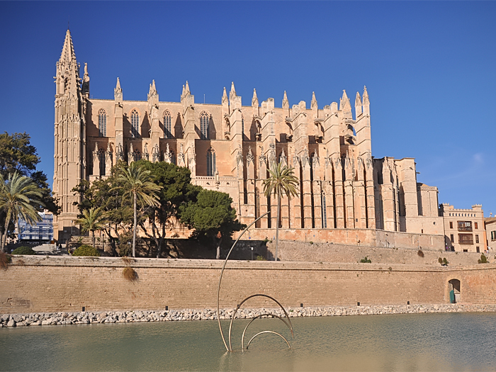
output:
<svg viewBox="0 0 496 372"><path fill-rule="evenodd" d="M30 225L41 220L33 205L43 205L40 198L43 194L40 188L29 177L19 174L9 174L7 180L0 174L0 210L6 213L4 236L0 239L1 252L4 252L7 241L9 223L13 220L19 230L19 218L23 218Z"/></svg>

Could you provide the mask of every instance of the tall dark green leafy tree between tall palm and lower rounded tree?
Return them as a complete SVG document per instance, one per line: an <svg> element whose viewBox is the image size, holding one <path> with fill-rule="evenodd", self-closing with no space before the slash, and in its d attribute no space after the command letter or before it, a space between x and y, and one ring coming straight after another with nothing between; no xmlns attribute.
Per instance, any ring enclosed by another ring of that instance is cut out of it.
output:
<svg viewBox="0 0 496 372"><path fill-rule="evenodd" d="M140 160L137 162L150 170L155 184L160 186L160 205L150 206L145 209L145 215L150 222L150 229L146 229L141 220L140 227L147 237L152 239L157 247L157 258L162 253L164 240L166 237L166 227L174 225L179 214L179 207L188 201L196 201L200 186L191 184L191 171L185 167L177 167L167 162L147 162Z"/></svg>

